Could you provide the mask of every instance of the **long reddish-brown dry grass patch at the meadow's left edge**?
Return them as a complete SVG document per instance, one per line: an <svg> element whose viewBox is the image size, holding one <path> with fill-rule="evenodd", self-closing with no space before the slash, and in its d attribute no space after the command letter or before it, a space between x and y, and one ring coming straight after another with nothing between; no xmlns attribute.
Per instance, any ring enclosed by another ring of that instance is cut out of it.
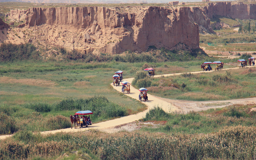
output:
<svg viewBox="0 0 256 160"><path fill-rule="evenodd" d="M46 81L43 79L12 79L10 77L3 76L0 78L0 83L3 84L23 84L23 85L34 85L39 87L52 87L56 83L53 81Z"/></svg>

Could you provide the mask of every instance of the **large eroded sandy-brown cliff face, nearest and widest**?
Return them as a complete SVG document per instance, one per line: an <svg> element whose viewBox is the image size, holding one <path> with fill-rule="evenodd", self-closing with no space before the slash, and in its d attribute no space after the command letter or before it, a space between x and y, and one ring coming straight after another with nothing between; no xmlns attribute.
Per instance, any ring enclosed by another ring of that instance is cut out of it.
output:
<svg viewBox="0 0 256 160"><path fill-rule="evenodd" d="M35 31L47 26L40 32L43 37L48 35L47 41L42 40L45 43L57 44L59 30L66 32L64 40L70 38L65 44L59 42L61 46L112 54L144 51L148 46L199 48L199 26L211 29L209 18L198 7L30 8L11 11L9 18L24 19L26 27L36 27ZM50 31L54 28L56 32Z"/></svg>

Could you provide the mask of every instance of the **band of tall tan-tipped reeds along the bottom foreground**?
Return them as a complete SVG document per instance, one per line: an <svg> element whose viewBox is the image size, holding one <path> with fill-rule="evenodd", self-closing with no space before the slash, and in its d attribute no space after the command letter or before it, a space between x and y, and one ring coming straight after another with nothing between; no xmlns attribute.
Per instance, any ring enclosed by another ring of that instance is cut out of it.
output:
<svg viewBox="0 0 256 160"><path fill-rule="evenodd" d="M102 160L253 159L256 155L256 128L244 126L231 126L216 133L195 136L146 132L58 133L37 138L27 133L22 135L30 141L24 142L23 138L16 136L0 142L1 160L51 157L66 148L87 148Z"/></svg>

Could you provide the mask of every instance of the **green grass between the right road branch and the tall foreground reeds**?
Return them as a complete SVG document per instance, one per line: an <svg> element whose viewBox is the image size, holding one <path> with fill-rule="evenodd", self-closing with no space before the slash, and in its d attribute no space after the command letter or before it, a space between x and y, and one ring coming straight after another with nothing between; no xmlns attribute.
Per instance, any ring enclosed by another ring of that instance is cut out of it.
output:
<svg viewBox="0 0 256 160"><path fill-rule="evenodd" d="M141 130L162 132L166 134L209 134L216 133L222 128L231 126L256 126L256 112L250 111L256 107L250 105L233 105L225 108L210 109L207 111L190 112L187 114L165 113L161 108L150 110L144 121L163 121L163 125L154 127L145 126Z"/></svg>

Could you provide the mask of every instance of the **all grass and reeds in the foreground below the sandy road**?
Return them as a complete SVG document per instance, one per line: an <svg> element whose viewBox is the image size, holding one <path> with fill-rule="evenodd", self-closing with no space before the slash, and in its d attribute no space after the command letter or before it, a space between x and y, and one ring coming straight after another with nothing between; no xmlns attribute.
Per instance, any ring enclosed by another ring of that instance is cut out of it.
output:
<svg viewBox="0 0 256 160"><path fill-rule="evenodd" d="M132 133L99 131L50 135L19 131L0 141L2 159L253 159L256 154L255 105L199 113L149 111L144 120L166 122Z"/></svg>

